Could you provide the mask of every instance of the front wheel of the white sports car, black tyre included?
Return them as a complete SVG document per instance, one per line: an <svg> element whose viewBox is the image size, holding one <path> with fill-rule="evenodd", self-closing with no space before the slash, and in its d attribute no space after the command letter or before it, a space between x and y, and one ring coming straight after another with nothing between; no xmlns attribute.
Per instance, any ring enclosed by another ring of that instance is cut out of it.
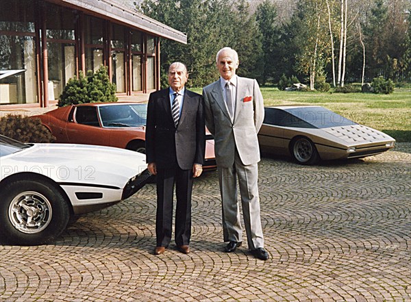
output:
<svg viewBox="0 0 411 302"><path fill-rule="evenodd" d="M0 201L0 238L12 244L51 242L66 228L70 210L66 199L49 183L12 181Z"/></svg>

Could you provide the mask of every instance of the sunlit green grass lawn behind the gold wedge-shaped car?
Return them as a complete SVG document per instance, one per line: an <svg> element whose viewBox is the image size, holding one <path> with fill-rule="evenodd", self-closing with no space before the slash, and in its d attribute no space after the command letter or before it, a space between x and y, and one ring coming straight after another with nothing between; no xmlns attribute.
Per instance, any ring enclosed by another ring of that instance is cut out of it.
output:
<svg viewBox="0 0 411 302"><path fill-rule="evenodd" d="M193 89L201 93L201 88ZM373 93L288 92L262 87L264 105L321 105L383 131L397 142L411 142L411 89L395 88L390 95Z"/></svg>

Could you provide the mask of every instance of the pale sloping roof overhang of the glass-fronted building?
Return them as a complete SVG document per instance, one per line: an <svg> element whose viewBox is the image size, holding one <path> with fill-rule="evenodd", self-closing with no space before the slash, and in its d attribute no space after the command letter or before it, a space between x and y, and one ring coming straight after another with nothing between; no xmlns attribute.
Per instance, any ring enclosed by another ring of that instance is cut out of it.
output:
<svg viewBox="0 0 411 302"><path fill-rule="evenodd" d="M149 18L140 12L125 8L119 3L109 0L59 0L54 3L65 3L71 8L76 8L82 12L92 14L94 16L103 16L106 19L123 23L129 27L174 40L183 44L187 44L187 35L179 32L172 27L164 25L153 18Z"/></svg>

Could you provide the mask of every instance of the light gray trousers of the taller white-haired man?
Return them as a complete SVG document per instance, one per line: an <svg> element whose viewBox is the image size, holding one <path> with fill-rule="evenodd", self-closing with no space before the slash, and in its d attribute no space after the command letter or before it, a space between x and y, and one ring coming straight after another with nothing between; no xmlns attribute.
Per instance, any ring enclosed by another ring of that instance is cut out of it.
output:
<svg viewBox="0 0 411 302"><path fill-rule="evenodd" d="M221 200L223 203L223 236L224 242L242 241L240 208L237 199L236 179L240 187L242 214L249 249L264 247L260 218L260 197L258 196L258 164L245 166L238 153L234 165L228 168L219 167Z"/></svg>

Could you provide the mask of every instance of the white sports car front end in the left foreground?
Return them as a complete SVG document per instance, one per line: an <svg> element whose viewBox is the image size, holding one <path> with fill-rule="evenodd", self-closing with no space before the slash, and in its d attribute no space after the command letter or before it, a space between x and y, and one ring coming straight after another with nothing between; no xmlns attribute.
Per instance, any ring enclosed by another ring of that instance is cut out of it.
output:
<svg viewBox="0 0 411 302"><path fill-rule="evenodd" d="M20 245L55 240L71 215L127 199L150 177L141 153L1 135L0 168L0 240Z"/></svg>

